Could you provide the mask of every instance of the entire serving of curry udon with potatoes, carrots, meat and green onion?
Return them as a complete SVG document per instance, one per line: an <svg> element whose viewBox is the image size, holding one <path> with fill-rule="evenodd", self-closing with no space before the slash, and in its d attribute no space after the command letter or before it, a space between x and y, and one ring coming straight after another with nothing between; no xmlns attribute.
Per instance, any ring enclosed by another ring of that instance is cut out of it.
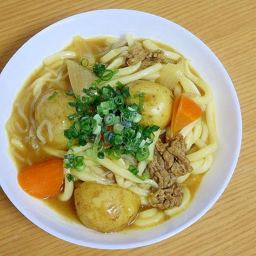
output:
<svg viewBox="0 0 256 256"><path fill-rule="evenodd" d="M76 35L44 58L6 123L23 190L100 232L186 209L218 146L212 90L189 62L132 34Z"/></svg>

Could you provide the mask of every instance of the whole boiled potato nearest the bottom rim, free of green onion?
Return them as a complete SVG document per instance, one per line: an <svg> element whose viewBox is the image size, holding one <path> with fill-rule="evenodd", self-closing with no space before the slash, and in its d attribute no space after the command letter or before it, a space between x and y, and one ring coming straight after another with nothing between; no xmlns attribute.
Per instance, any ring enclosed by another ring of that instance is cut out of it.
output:
<svg viewBox="0 0 256 256"><path fill-rule="evenodd" d="M116 232L131 222L140 208L140 197L120 186L84 182L74 192L80 221L103 233Z"/></svg>

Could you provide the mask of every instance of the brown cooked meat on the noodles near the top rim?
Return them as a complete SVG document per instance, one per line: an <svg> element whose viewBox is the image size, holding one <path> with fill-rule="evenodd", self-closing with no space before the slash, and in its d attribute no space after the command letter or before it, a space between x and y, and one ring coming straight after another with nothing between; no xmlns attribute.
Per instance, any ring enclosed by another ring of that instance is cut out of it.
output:
<svg viewBox="0 0 256 256"><path fill-rule="evenodd" d="M163 50L145 51L138 42L131 46L130 53L125 56L125 61L128 66L135 65L139 61L142 61L144 66L151 66L155 63L167 64L169 62L168 58L164 56Z"/></svg>

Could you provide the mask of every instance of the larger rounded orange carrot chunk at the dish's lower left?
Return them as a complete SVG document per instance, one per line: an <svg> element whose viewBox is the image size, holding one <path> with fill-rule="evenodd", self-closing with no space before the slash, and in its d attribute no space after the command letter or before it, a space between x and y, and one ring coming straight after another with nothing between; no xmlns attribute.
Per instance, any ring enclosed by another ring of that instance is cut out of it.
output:
<svg viewBox="0 0 256 256"><path fill-rule="evenodd" d="M29 195L40 199L58 194L63 179L63 161L60 158L35 163L18 173L21 188Z"/></svg>

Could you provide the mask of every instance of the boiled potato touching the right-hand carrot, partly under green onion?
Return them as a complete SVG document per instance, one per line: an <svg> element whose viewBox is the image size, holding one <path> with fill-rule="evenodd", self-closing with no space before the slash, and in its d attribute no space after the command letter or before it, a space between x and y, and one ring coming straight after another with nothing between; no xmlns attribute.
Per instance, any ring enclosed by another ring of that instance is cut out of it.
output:
<svg viewBox="0 0 256 256"><path fill-rule="evenodd" d="M162 84L156 82L137 80L126 86L129 87L131 99L126 103L139 104L137 93L145 93L143 99L142 119L140 125L158 125L161 128L168 126L172 118L172 91Z"/></svg>

